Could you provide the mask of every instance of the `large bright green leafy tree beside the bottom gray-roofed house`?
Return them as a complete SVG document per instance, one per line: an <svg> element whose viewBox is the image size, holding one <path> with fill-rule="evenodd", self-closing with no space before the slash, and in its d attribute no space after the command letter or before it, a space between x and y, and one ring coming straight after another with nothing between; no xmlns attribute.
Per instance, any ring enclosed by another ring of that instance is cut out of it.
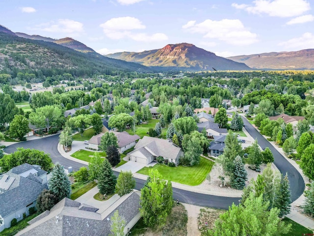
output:
<svg viewBox="0 0 314 236"><path fill-rule="evenodd" d="M146 225L163 226L173 205L171 181L162 179L157 170L150 170L147 182L141 189L140 205Z"/></svg>

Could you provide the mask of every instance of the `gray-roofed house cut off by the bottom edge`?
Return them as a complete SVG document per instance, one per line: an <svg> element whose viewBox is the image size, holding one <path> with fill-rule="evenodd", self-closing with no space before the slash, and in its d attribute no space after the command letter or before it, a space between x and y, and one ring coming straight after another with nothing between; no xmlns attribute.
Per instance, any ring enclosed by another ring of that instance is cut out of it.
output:
<svg viewBox="0 0 314 236"><path fill-rule="evenodd" d="M126 221L128 229L140 219L140 192L133 190L106 209L81 204L64 198L51 210L46 210L28 223L17 236L106 236L110 232L110 218L116 210Z"/></svg>

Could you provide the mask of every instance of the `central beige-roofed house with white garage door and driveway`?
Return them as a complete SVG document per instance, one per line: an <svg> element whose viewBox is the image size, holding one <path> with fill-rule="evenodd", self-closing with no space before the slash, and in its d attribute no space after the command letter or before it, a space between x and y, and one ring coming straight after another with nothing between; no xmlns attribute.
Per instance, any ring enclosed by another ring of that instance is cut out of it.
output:
<svg viewBox="0 0 314 236"><path fill-rule="evenodd" d="M129 153L130 160L148 165L158 156L168 159L169 163L179 164L180 156L183 156L182 148L173 144L170 140L144 136Z"/></svg>

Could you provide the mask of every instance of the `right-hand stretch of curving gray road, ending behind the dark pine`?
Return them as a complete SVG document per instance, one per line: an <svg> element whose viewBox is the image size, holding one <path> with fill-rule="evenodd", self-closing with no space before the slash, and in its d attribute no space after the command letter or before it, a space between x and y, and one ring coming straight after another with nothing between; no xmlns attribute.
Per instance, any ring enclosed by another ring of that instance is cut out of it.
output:
<svg viewBox="0 0 314 236"><path fill-rule="evenodd" d="M257 139L261 148L268 147L274 155L274 164L277 166L279 171L286 175L288 173L288 179L290 181L290 190L291 190L291 200L292 202L297 200L303 193L305 184L300 173L287 161L287 159L276 149L274 148L268 140L266 140L260 132L253 127L253 125L246 119L242 118L244 122L244 127L247 132Z"/></svg>

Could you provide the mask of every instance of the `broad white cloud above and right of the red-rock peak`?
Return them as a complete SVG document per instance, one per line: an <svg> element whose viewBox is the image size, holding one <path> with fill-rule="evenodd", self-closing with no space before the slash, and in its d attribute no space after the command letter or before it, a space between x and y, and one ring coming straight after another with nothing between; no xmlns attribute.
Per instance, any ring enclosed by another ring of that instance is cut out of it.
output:
<svg viewBox="0 0 314 236"><path fill-rule="evenodd" d="M257 42L257 34L245 29L240 20L205 20L199 24L189 21L182 28L191 33L204 34L204 38L216 38L233 45L249 45Z"/></svg>

